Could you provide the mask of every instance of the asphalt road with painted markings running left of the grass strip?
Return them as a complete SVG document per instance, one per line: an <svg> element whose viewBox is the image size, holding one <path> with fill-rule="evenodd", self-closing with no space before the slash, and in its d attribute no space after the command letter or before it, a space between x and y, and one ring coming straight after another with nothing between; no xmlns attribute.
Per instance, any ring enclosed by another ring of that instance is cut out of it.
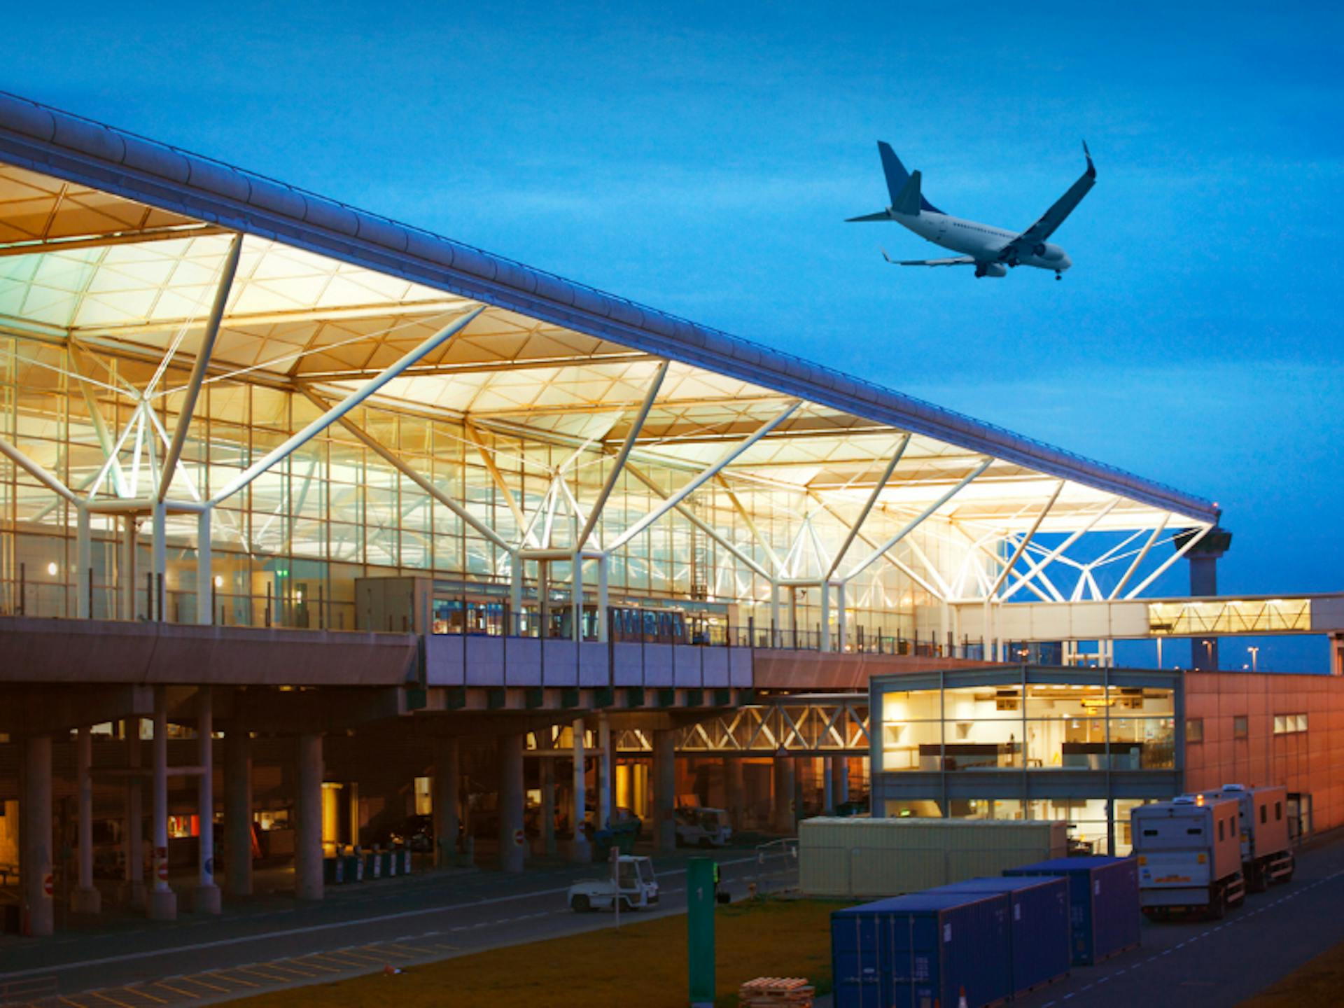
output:
<svg viewBox="0 0 1344 1008"><path fill-rule="evenodd" d="M632 922L685 910L685 862L689 855L656 857L661 900L656 909L622 915ZM745 895L761 867L753 851L715 852L723 887ZM773 866L771 866L773 870ZM257 964L298 962L289 966L301 982L305 969L325 969L316 980L335 980L345 973L368 972L398 962L395 956L417 953L421 958L448 958L501 945L555 938L610 927L613 914L575 914L564 891L575 879L597 878L605 866L564 866L523 875L461 871L426 874L383 883L331 888L317 905L296 905L271 898L216 918L195 919L183 914L176 923L149 925L124 919L93 931L58 935L54 939L7 939L0 943L0 985L55 977L62 996L85 991L146 989L153 1003L165 1003L161 986L148 986L175 977L204 976ZM765 887L778 884L762 879ZM134 925L134 926L130 926ZM401 950L401 952L398 952ZM314 957L304 960L304 957ZM362 961L363 960L363 961ZM348 961L345 969L335 964ZM305 966L305 962L313 965ZM267 968L271 969L271 968ZM257 973L224 973L253 976ZM218 978L218 986L224 986ZM176 986L180 981L172 980ZM167 991L172 992L173 985ZM188 988L195 989L195 988ZM226 1000L255 991L196 989L190 1000ZM126 995L114 995L125 1001ZM167 1000L176 1000L168 995ZM185 999L184 999L185 1000ZM101 1000L98 1001L101 1003Z"/></svg>

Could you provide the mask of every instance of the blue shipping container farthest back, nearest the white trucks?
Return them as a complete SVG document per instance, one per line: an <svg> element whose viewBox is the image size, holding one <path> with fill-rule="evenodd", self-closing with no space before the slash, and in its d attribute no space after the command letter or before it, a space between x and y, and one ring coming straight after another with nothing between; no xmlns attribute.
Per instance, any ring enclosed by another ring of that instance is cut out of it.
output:
<svg viewBox="0 0 1344 1008"><path fill-rule="evenodd" d="M1004 875L1068 879L1075 965L1101 962L1138 945L1138 863L1133 857L1055 857Z"/></svg>

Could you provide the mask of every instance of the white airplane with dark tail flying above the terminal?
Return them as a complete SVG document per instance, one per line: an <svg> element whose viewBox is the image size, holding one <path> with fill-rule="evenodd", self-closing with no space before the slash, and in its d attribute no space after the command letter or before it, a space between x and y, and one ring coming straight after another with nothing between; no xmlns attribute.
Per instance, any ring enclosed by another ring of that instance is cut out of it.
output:
<svg viewBox="0 0 1344 1008"><path fill-rule="evenodd" d="M977 277L1005 277L1015 266L1036 266L1054 270L1055 280L1063 280L1064 270L1074 265L1063 249L1046 239L1064 223L1064 218L1074 212L1074 207L1097 184L1097 167L1093 164L1086 141L1083 141L1083 156L1087 159L1087 171L1025 231L1005 231L1001 227L943 214L919 191L919 172L907 172L890 144L879 140L878 153L882 156L882 171L887 176L891 206L876 214L848 218L848 222L895 220L934 245L962 253L942 259L892 259L883 249L882 258L894 266L974 266Z"/></svg>

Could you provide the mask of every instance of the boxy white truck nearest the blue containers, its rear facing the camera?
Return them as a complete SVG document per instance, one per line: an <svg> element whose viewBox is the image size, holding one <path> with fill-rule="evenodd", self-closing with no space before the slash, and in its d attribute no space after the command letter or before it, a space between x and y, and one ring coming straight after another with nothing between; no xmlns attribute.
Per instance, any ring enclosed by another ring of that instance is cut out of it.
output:
<svg viewBox="0 0 1344 1008"><path fill-rule="evenodd" d="M1220 918L1246 899L1235 798L1183 794L1129 813L1138 905L1148 917L1203 910Z"/></svg>

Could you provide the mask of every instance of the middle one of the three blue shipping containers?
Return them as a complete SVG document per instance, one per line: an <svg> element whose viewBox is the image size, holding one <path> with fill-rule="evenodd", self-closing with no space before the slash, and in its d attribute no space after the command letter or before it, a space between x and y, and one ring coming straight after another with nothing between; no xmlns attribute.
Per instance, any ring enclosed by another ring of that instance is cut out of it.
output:
<svg viewBox="0 0 1344 1008"><path fill-rule="evenodd" d="M1003 892L1008 896L1013 997L1068 973L1068 879L966 879L930 892Z"/></svg>

